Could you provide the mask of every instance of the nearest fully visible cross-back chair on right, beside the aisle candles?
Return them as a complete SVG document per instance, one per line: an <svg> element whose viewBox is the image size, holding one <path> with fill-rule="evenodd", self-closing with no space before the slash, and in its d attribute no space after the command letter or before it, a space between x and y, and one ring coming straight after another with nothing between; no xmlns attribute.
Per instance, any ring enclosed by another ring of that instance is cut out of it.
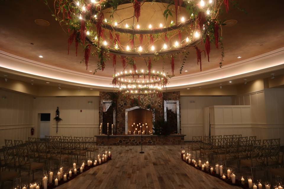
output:
<svg viewBox="0 0 284 189"><path fill-rule="evenodd" d="M265 171L265 155L263 154L265 148L265 145L253 146L252 151L250 152L250 159L241 160L241 171L242 167L250 167L252 180L254 180L256 168L263 168L265 177L267 178Z"/></svg>

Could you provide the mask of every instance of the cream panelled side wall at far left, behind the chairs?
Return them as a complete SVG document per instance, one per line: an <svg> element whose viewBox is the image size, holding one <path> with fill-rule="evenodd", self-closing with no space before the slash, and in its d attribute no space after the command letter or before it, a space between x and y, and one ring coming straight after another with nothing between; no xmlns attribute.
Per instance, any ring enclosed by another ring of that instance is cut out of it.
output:
<svg viewBox="0 0 284 189"><path fill-rule="evenodd" d="M4 139L28 140L33 126L33 97L0 90L0 146ZM5 98L6 97L6 98Z"/></svg>

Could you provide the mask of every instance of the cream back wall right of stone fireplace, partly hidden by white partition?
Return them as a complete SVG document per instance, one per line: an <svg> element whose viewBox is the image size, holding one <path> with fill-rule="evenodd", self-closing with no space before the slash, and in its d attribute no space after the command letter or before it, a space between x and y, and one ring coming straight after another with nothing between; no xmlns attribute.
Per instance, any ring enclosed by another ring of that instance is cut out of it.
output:
<svg viewBox="0 0 284 189"><path fill-rule="evenodd" d="M180 97L181 133L186 135L185 141L191 141L192 136L204 136L204 107L231 103L231 97Z"/></svg>

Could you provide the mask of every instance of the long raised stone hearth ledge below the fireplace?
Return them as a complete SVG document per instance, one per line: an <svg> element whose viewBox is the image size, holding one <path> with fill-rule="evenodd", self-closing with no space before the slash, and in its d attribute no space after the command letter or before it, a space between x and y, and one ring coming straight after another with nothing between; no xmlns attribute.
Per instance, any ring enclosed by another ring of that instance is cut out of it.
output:
<svg viewBox="0 0 284 189"><path fill-rule="evenodd" d="M183 144L182 134L174 135L142 135L143 145L174 145ZM141 145L141 135L95 135L98 146L135 146Z"/></svg>

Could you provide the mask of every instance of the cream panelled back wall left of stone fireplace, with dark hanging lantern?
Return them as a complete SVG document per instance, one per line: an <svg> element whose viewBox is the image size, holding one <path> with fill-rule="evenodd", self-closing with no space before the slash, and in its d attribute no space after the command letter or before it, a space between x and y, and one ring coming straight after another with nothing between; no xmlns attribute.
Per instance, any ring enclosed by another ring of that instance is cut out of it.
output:
<svg viewBox="0 0 284 189"><path fill-rule="evenodd" d="M57 106L62 118L58 133L53 120ZM39 113L51 114L50 135L92 137L99 133L99 97L37 97L34 99L34 112L35 123ZM36 133L39 136L39 125Z"/></svg>

